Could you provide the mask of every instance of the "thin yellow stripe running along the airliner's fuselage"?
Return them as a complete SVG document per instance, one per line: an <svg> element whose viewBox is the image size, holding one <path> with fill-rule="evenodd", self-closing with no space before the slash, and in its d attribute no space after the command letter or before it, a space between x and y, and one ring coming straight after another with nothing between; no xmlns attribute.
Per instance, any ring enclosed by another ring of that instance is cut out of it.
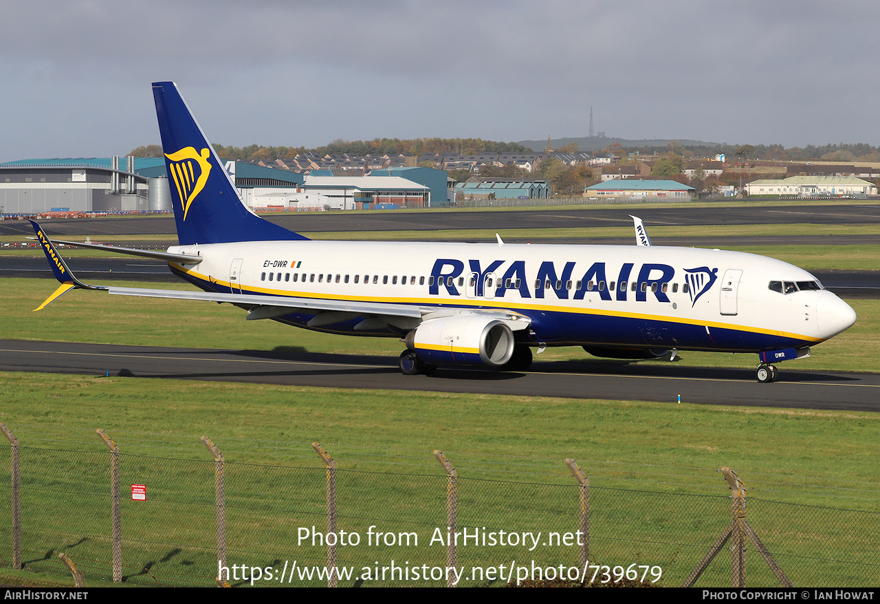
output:
<svg viewBox="0 0 880 604"><path fill-rule="evenodd" d="M187 273L187 275L194 276L197 279L202 279L202 281L224 285L225 287L231 287L231 284L226 281L220 281L218 279L214 279L211 281L208 276L202 275L201 273L197 273L192 269L185 269L180 264L175 262L169 262L169 264L174 265L181 271ZM495 302L492 299L473 299L473 298L462 298L460 300L454 298L391 298L391 297L375 297L375 296L337 296L333 294L323 294L312 291L288 291L288 290L270 290L262 287L253 287L250 285L236 285L236 287L241 287L242 291L253 291L256 293L265 293L271 296L286 296L290 298L316 298L316 299L327 299L327 300L336 300L339 302L383 302L388 304L409 304L409 305L422 305L422 306L440 306L440 305L454 305L454 306L479 306L482 308L492 308L495 310L508 310L510 308L517 308L517 310L536 310L541 312L550 312L550 313L572 313L572 314L592 314L600 317L619 317L621 319L637 319L637 320L659 320L667 323L678 323L681 325L690 325L693 327L707 327L707 328L717 328L717 329L731 329L734 331L744 331L747 333L753 334L764 334L764 335L776 335L780 337L787 338L796 338L798 340L803 340L805 342L812 343L820 343L825 342L822 338L814 337L812 335L803 335L803 334L794 334L788 331L779 331L776 329L763 329L763 328L754 328L747 325L731 325L730 323L722 323L720 321L712 321L712 320L696 320L696 319L684 319L678 317L670 317L665 315L656 315L656 314L645 314L645 313L627 313L623 311L612 311L612 310L603 310L598 308L578 308L575 306L545 306L545 305L536 305L536 304L528 304L525 302L512 302L510 300Z"/></svg>

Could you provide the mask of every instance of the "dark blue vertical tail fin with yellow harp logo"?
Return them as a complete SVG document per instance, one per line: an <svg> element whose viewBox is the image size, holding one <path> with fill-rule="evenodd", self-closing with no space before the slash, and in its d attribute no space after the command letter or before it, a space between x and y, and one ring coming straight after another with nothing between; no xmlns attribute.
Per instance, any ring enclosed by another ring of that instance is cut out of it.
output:
<svg viewBox="0 0 880 604"><path fill-rule="evenodd" d="M154 82L153 98L181 246L308 239L253 213L173 82Z"/></svg>

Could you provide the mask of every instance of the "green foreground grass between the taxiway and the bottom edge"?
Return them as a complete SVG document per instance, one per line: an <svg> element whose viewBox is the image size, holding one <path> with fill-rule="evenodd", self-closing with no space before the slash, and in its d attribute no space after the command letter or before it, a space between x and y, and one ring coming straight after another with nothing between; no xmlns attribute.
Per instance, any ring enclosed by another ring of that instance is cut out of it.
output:
<svg viewBox="0 0 880 604"><path fill-rule="evenodd" d="M148 485L143 505L122 502L130 583L210 584L214 470L202 434L226 455L230 563L323 563L322 548L296 541L299 527L323 526L317 440L338 463L341 528L422 537L418 547L341 550L358 568L443 565L444 549L425 544L444 525L445 478L430 453L439 448L458 468L461 527L574 530L576 488L562 464L570 456L590 476L594 559L660 565L663 584L679 585L730 522L716 471L729 465L749 487L753 526L796 585L877 577L880 485L865 480L873 465L864 454L876 414L42 374L0 376L0 396L0 419L23 447L26 560L32 578L49 582L63 574L44 555L62 549L92 585L109 574L109 459L96 427L121 447L123 489ZM8 464L0 468L7 489ZM577 558L564 547L459 551L463 564ZM700 585L724 585L729 563L719 556ZM750 586L773 585L754 557L750 569Z"/></svg>

